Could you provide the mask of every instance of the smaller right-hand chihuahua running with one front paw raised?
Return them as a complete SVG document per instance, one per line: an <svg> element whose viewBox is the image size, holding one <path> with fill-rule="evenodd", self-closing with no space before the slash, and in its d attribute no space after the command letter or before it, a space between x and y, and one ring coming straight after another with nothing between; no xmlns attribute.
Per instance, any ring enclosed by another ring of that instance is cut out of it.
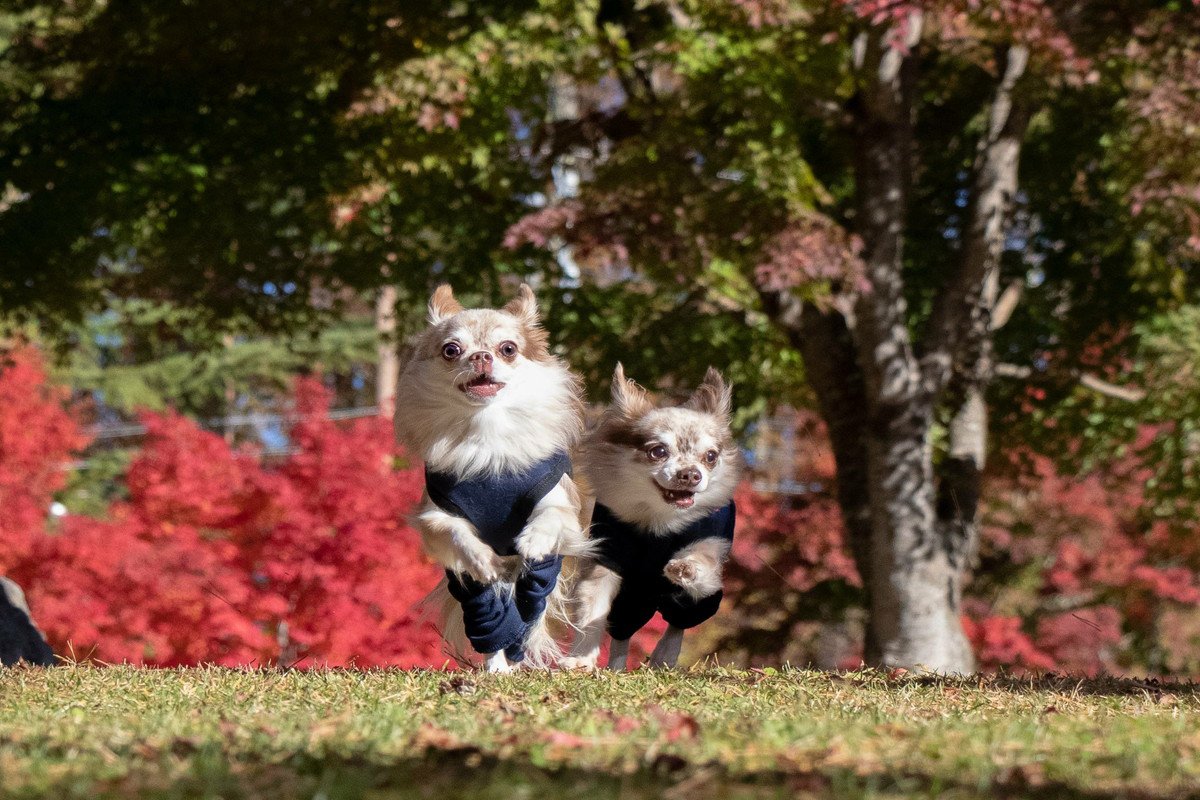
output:
<svg viewBox="0 0 1200 800"><path fill-rule="evenodd" d="M608 666L625 668L630 637L655 612L667 631L650 664L673 667L683 632L716 613L743 469L730 417L731 390L716 369L683 405L656 407L617 365L612 404L582 447L594 554L581 559L577 636L564 667L594 667L607 630Z"/></svg>

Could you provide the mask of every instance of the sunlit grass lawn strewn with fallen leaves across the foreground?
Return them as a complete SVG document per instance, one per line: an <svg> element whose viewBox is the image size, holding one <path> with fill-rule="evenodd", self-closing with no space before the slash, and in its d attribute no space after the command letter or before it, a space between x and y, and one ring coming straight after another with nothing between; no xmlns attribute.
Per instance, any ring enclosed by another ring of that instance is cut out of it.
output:
<svg viewBox="0 0 1200 800"><path fill-rule="evenodd" d="M0 795L1171 798L1198 721L1116 679L0 669Z"/></svg>

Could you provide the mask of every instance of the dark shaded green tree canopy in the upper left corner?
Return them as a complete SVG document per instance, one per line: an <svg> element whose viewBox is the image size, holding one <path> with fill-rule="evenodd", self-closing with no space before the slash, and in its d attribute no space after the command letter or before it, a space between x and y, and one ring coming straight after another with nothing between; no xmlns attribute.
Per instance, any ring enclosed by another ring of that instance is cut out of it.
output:
<svg viewBox="0 0 1200 800"><path fill-rule="evenodd" d="M346 288L373 289L392 264L388 243L378 228L342 224L346 200L389 148L438 160L416 120L356 125L356 103L380 76L522 8L8 4L0 307L78 317L104 287L278 327L336 306ZM418 259L424 283L431 251L486 265L469 227L494 215L487 198L458 193L473 169L437 163L385 188L406 194L401 218L379 221L401 240L394 272Z"/></svg>

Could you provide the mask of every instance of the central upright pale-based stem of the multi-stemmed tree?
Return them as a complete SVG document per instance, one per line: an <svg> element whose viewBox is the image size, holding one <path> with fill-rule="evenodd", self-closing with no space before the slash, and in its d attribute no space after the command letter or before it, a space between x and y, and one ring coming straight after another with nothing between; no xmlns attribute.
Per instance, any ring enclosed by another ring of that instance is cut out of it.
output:
<svg viewBox="0 0 1200 800"><path fill-rule="evenodd" d="M934 509L928 390L908 335L902 251L911 185L914 68L922 16L904 47L874 30L856 43L856 219L871 284L854 305L866 399L871 663L965 673L974 668L959 619L959 571L940 541Z"/></svg>

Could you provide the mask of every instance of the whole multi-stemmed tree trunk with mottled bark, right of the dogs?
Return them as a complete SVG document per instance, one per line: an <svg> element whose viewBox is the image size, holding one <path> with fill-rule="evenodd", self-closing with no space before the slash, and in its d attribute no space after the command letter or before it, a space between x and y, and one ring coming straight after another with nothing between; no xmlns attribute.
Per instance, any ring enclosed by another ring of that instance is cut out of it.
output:
<svg viewBox="0 0 1200 800"><path fill-rule="evenodd" d="M920 29L913 12L896 30L871 30L854 42L854 223L870 289L840 313L787 291L763 290L762 300L802 351L829 426L838 500L869 603L868 662L968 673L974 657L960 618L962 579L986 450L991 309L1031 112L1014 94L1027 53L1014 46L1000 59L959 264L935 297L918 348L908 333L902 247ZM898 46L896 34L907 41ZM935 482L930 431L952 377L959 404Z"/></svg>

